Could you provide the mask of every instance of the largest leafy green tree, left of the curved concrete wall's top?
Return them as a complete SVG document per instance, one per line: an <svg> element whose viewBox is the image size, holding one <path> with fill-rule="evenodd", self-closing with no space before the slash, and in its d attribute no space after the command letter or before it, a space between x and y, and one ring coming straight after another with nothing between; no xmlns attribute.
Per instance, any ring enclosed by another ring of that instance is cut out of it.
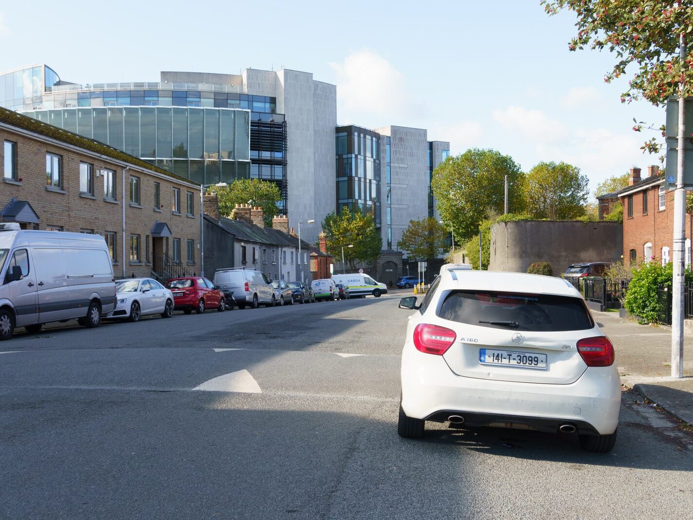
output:
<svg viewBox="0 0 693 520"><path fill-rule="evenodd" d="M523 173L508 155L473 148L449 157L433 172L431 187L441 218L453 227L455 241L478 232L486 211L502 213L504 177L508 176L509 211L523 210Z"/></svg>

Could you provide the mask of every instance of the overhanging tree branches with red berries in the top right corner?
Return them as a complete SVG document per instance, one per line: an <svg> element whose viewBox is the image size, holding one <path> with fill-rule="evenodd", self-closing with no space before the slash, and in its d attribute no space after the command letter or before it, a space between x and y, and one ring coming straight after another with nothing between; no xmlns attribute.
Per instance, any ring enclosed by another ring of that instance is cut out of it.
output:
<svg viewBox="0 0 693 520"><path fill-rule="evenodd" d="M693 2L690 0L541 0L546 12L555 15L568 9L577 15L577 35L568 49L591 49L616 54L616 63L604 81L611 83L626 73L634 75L621 95L622 103L640 96L653 105L663 105L669 96L693 95L693 45L685 59L679 57L679 36L690 35ZM633 130L642 127L635 122ZM643 150L658 152L656 139Z"/></svg>

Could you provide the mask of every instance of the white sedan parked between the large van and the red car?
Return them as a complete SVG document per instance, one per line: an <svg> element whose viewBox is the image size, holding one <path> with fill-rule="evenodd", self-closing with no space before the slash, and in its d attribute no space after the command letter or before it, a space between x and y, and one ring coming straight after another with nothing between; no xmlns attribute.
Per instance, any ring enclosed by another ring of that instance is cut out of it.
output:
<svg viewBox="0 0 693 520"><path fill-rule="evenodd" d="M128 278L116 281L116 308L106 318L126 318L139 321L141 316L173 315L173 293L151 278Z"/></svg>

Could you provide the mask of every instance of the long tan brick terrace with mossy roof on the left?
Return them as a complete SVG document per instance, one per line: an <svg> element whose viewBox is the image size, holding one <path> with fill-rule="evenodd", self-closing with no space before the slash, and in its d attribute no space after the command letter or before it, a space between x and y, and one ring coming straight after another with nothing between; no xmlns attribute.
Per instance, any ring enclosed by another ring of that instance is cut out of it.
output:
<svg viewBox="0 0 693 520"><path fill-rule="evenodd" d="M200 272L199 184L4 108L0 144L0 221L103 236L116 277Z"/></svg>

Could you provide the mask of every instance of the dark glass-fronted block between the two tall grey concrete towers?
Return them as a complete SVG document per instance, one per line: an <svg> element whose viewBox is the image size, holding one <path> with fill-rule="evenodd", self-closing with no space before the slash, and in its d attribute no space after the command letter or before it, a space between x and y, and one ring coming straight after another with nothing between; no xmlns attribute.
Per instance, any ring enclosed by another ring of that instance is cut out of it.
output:
<svg viewBox="0 0 693 520"><path fill-rule="evenodd" d="M380 134L355 125L338 126L335 135L337 212L374 213L380 227Z"/></svg>

